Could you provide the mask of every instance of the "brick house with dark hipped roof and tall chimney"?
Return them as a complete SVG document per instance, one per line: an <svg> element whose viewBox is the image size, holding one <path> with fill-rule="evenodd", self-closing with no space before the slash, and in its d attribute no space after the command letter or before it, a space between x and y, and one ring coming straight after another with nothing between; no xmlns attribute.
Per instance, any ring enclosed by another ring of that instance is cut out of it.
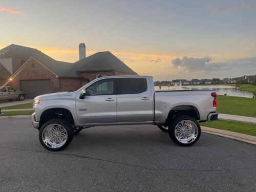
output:
<svg viewBox="0 0 256 192"><path fill-rule="evenodd" d="M99 76L137 75L111 52L86 57L85 45L80 45L81 59L74 63L58 61L37 49L13 44L0 50L0 86L11 78L9 85L25 91L27 98L34 98L46 93L75 91Z"/></svg>

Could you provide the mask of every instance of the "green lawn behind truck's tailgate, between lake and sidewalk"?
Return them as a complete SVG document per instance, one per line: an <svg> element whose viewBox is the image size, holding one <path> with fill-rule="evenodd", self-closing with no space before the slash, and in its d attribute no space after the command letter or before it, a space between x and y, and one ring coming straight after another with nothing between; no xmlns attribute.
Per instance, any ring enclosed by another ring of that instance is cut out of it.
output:
<svg viewBox="0 0 256 192"><path fill-rule="evenodd" d="M217 101L219 113L256 117L256 99L218 95Z"/></svg>

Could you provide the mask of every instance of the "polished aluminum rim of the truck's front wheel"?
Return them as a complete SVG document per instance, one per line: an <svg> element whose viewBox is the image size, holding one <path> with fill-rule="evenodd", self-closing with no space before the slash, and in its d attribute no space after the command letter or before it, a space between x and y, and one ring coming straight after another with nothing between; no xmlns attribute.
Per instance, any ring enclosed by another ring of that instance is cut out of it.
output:
<svg viewBox="0 0 256 192"><path fill-rule="evenodd" d="M42 141L51 148L63 146L68 139L68 132L60 124L49 124L42 132Z"/></svg>

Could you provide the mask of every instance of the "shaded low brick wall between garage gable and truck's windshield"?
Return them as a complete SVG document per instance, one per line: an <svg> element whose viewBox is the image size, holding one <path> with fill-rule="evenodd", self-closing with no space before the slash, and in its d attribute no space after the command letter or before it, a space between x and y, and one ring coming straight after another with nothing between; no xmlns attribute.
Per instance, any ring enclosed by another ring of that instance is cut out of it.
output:
<svg viewBox="0 0 256 192"><path fill-rule="evenodd" d="M59 78L60 80L60 91L76 91L82 87L81 79L72 78Z"/></svg>

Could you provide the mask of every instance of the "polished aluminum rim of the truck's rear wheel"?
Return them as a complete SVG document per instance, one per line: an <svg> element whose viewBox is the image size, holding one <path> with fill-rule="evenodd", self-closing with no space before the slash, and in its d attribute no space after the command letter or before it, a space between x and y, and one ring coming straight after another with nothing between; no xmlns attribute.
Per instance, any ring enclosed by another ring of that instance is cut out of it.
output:
<svg viewBox="0 0 256 192"><path fill-rule="evenodd" d="M174 134L179 142L191 143L198 136L198 127L193 121L182 120L175 126Z"/></svg>

